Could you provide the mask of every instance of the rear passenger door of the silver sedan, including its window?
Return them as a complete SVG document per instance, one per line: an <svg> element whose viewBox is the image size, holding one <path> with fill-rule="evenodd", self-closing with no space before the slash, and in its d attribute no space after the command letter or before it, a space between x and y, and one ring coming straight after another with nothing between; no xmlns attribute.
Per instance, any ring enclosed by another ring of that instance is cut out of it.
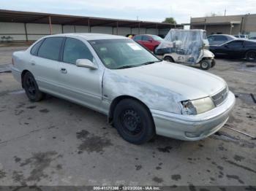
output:
<svg viewBox="0 0 256 191"><path fill-rule="evenodd" d="M59 58L63 37L48 37L31 49L30 71L40 90L59 91Z"/></svg>

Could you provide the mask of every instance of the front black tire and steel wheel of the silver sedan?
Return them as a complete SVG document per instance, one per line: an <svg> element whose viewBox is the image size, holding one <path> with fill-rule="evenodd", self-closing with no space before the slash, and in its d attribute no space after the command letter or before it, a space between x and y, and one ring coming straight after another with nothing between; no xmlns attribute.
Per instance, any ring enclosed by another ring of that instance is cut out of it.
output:
<svg viewBox="0 0 256 191"><path fill-rule="evenodd" d="M143 104L132 99L120 101L113 115L119 135L132 144L143 144L155 135L153 118Z"/></svg>

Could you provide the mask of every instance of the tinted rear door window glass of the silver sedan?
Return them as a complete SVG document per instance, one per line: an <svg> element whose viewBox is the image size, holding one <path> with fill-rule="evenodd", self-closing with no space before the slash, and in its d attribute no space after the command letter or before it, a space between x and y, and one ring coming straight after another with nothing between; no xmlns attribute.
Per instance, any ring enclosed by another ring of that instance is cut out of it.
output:
<svg viewBox="0 0 256 191"><path fill-rule="evenodd" d="M58 61L62 41L62 37L49 37L45 39L38 50L38 56Z"/></svg>

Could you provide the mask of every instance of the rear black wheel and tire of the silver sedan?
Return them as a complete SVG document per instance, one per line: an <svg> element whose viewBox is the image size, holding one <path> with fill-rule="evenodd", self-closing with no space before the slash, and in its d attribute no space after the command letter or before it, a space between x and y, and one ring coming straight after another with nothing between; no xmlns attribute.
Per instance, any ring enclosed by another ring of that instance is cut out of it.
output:
<svg viewBox="0 0 256 191"><path fill-rule="evenodd" d="M33 74L31 74L29 71L26 72L22 81L24 90L30 101L41 101L42 98L44 98L45 94L39 90Z"/></svg>

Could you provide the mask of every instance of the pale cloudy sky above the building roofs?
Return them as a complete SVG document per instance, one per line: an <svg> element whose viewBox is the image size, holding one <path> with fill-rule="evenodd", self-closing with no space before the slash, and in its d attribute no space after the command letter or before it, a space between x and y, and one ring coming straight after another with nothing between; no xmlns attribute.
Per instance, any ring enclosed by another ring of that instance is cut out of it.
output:
<svg viewBox="0 0 256 191"><path fill-rule="evenodd" d="M224 15L225 9L226 15L256 13L256 0L0 0L0 9L189 23L190 17Z"/></svg>

